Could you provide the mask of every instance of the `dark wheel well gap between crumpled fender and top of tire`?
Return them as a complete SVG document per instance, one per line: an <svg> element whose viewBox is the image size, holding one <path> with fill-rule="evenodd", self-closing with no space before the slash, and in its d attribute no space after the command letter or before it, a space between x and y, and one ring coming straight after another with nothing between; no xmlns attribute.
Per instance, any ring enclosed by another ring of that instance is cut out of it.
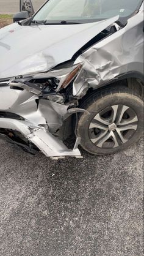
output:
<svg viewBox="0 0 144 256"><path fill-rule="evenodd" d="M79 100L79 105L82 104L82 102L84 102L85 99L87 99L88 97L90 97L90 95L92 95L93 93L97 93L100 92L101 89L108 89L111 88L113 86L124 86L124 87L128 87L129 89L131 89L131 91L134 94L139 95L140 97L142 97L143 99L143 82L140 79L137 78L124 78L118 81L113 81L110 84L107 85L103 85L99 88L93 89L93 88L89 88L87 91L87 94L85 94L85 96Z"/></svg>

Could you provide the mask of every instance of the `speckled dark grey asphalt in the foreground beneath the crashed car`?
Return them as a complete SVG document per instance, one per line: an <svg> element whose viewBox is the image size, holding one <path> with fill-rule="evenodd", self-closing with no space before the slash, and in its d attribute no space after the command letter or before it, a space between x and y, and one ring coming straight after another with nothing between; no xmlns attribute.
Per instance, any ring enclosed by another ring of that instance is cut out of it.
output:
<svg viewBox="0 0 144 256"><path fill-rule="evenodd" d="M0 141L2 256L142 256L143 140L50 160Z"/></svg>

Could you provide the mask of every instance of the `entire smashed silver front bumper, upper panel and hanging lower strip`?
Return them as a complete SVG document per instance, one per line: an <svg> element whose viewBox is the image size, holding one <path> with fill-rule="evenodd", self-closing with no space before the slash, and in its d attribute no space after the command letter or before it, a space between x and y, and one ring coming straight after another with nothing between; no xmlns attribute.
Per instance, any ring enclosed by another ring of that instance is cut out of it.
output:
<svg viewBox="0 0 144 256"><path fill-rule="evenodd" d="M10 85L14 86L15 84L10 83ZM18 86L20 85L18 84ZM12 136L11 131L18 132L24 137L24 140L28 141L27 145L35 145L35 148L38 148L47 157L52 159L65 156L79 158L81 157L81 152L78 149L80 138L76 138L73 149L69 149L57 135L54 135L68 116L79 111L78 108L71 111L68 107L69 105L40 99L34 94L34 91L31 92L31 89L21 91L14 87L10 89L8 85L1 86L0 137L5 138L1 130L7 130L7 134L10 136ZM6 113L5 116L4 113ZM10 115L12 117L7 118ZM15 116L18 116L18 119ZM14 142L12 139L13 137L9 137L9 142ZM15 142L15 144L21 146L20 143Z"/></svg>

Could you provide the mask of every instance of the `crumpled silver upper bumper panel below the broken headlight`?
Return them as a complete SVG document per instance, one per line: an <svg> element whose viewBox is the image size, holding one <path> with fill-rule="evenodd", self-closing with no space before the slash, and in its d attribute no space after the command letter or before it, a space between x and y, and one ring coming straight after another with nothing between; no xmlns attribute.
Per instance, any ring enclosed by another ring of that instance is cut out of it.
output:
<svg viewBox="0 0 144 256"><path fill-rule="evenodd" d="M38 104L37 104L38 100ZM0 88L0 110L15 113L37 125L48 124L54 132L63 124L69 105L62 105L51 100L39 99L32 92Z"/></svg>

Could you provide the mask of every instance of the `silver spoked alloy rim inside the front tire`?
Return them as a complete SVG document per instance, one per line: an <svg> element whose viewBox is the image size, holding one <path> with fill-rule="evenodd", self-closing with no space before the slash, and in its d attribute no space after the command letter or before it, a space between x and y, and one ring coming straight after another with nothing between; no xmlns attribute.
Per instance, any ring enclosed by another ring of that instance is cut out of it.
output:
<svg viewBox="0 0 144 256"><path fill-rule="evenodd" d="M129 141L138 127L138 117L126 105L112 105L90 122L88 134L98 148L117 148Z"/></svg>

